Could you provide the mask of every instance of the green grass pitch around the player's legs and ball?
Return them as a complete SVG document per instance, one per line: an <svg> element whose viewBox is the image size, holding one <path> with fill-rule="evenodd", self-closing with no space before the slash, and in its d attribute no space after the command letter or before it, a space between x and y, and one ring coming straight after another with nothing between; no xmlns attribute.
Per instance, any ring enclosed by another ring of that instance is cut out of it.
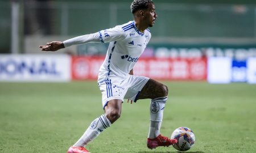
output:
<svg viewBox="0 0 256 153"><path fill-rule="evenodd" d="M187 152L255 152L256 86L246 83L163 82L169 88L161 133L191 128ZM90 152L148 150L150 100L123 103L121 118L86 148ZM67 152L103 114L97 82L0 83L0 152Z"/></svg>

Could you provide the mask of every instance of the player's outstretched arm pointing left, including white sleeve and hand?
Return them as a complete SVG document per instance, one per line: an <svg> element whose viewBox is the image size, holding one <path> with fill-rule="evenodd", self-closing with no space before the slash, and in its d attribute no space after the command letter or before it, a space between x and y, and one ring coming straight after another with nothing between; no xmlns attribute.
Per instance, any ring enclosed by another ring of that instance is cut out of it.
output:
<svg viewBox="0 0 256 153"><path fill-rule="evenodd" d="M96 33L74 37L72 39L61 41L48 42L47 45L39 46L42 51L56 51L61 48L66 48L72 45L80 45L86 43L100 43L100 42L110 42L119 41L125 38L125 33L120 27L114 27L110 29L105 29Z"/></svg>

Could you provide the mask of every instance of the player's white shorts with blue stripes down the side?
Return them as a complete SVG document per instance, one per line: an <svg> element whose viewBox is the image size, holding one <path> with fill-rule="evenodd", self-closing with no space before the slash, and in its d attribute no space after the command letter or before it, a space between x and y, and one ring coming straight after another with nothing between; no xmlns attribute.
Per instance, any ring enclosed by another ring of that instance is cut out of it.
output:
<svg viewBox="0 0 256 153"><path fill-rule="evenodd" d="M149 78L145 76L127 75L126 78L109 77L98 83L102 93L103 109L110 100L130 99L137 101L139 92L145 86Z"/></svg>

